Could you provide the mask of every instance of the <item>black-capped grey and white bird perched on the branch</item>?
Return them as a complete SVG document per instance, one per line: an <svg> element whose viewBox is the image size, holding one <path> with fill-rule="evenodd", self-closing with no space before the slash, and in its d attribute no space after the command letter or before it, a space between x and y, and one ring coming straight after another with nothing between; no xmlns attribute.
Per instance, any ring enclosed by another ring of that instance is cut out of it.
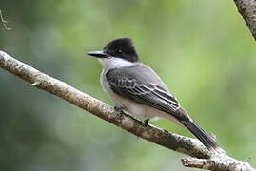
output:
<svg viewBox="0 0 256 171"><path fill-rule="evenodd" d="M223 153L198 123L181 106L160 76L139 61L131 38L110 41L103 50L91 51L103 66L100 82L115 104L115 108L133 116L149 119L165 118L185 126L210 152Z"/></svg>

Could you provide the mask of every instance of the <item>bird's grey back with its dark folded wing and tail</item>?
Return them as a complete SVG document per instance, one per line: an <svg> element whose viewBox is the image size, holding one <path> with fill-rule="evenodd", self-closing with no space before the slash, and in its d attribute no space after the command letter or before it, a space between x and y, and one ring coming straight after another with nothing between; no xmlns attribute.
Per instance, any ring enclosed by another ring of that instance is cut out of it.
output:
<svg viewBox="0 0 256 171"><path fill-rule="evenodd" d="M168 92L166 85L150 68L137 66L135 69L134 67L111 69L106 77L110 88L115 93L170 114L203 142L207 149L218 153L223 151L204 129L189 118L187 112Z"/></svg>

